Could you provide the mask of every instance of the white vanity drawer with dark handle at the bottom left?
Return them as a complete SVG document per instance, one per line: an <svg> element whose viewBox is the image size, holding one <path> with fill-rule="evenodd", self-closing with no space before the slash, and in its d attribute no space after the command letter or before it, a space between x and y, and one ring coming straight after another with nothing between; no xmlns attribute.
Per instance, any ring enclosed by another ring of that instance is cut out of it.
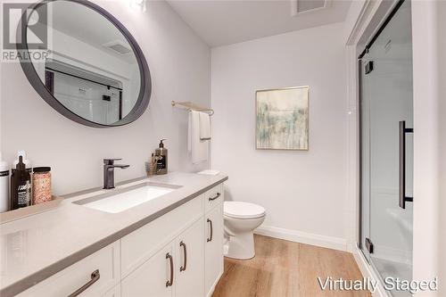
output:
<svg viewBox="0 0 446 297"><path fill-rule="evenodd" d="M99 271L99 274L95 274ZM46 278L17 296L69 296L84 287L79 296L102 296L120 284L120 242L111 243L68 268Z"/></svg>

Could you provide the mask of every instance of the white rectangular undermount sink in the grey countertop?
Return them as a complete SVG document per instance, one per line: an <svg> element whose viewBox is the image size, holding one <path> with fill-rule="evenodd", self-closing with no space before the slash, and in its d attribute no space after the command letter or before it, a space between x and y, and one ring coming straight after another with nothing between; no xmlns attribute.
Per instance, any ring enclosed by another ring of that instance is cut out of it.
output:
<svg viewBox="0 0 446 297"><path fill-rule="evenodd" d="M180 187L146 182L135 186L115 188L110 193L98 194L73 203L94 210L118 213L173 192Z"/></svg>

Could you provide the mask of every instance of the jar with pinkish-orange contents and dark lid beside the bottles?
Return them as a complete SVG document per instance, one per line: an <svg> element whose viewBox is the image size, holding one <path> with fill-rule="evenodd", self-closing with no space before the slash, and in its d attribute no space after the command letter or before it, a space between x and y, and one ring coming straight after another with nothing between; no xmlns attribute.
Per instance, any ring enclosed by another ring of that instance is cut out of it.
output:
<svg viewBox="0 0 446 297"><path fill-rule="evenodd" d="M35 167L32 174L32 203L51 201L51 168Z"/></svg>

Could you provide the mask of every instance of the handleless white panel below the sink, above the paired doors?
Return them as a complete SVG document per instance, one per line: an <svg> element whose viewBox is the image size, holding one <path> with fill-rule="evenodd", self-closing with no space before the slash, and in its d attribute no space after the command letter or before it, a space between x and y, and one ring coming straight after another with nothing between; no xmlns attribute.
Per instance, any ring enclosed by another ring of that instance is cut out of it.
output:
<svg viewBox="0 0 446 297"><path fill-rule="evenodd" d="M202 195L122 237L121 276L128 276L200 217Z"/></svg>

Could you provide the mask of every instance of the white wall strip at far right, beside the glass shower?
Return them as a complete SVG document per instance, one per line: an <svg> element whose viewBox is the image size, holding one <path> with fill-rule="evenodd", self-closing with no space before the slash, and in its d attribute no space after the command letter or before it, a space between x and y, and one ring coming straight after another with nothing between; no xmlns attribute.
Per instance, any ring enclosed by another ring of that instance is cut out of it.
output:
<svg viewBox="0 0 446 297"><path fill-rule="evenodd" d="M415 279L439 277L446 294L444 239L446 4L412 2L414 55L414 254ZM425 294L427 296L427 293ZM429 295L430 296L430 295Z"/></svg>

